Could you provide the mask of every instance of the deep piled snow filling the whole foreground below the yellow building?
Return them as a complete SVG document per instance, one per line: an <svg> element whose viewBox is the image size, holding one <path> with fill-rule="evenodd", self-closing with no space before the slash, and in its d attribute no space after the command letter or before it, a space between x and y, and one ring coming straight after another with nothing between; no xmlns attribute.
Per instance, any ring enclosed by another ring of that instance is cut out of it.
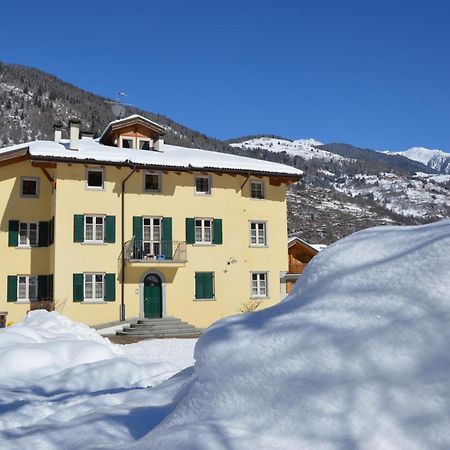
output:
<svg viewBox="0 0 450 450"><path fill-rule="evenodd" d="M168 348L155 361L76 324L42 333L48 315L34 314L0 332L2 357L15 352L0 360L13 373L0 383L0 447L448 449L449 248L450 220L348 236L315 256L284 302L211 326L195 365L166 381ZM147 369L126 382L131 363Z"/></svg>

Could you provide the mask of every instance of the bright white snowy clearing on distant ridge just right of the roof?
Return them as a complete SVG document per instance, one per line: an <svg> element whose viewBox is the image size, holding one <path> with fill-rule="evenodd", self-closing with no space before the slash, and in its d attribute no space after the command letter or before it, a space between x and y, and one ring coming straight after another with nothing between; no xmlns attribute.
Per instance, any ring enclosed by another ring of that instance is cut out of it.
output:
<svg viewBox="0 0 450 450"><path fill-rule="evenodd" d="M315 139L297 139L295 141L289 141L287 139L263 136L244 142L234 142L230 144L230 147L263 149L275 153L286 152L288 155L301 156L304 159L318 158L326 161L339 161L345 159L335 153L316 148L319 145L323 145L322 142L316 141Z"/></svg>

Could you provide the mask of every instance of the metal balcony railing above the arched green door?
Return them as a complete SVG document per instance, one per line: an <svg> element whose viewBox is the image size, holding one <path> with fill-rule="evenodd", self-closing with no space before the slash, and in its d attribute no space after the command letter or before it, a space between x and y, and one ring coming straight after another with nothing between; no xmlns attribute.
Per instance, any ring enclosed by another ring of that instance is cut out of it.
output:
<svg viewBox="0 0 450 450"><path fill-rule="evenodd" d="M123 248L125 261L148 263L185 263L187 261L184 241L141 241L131 239Z"/></svg>

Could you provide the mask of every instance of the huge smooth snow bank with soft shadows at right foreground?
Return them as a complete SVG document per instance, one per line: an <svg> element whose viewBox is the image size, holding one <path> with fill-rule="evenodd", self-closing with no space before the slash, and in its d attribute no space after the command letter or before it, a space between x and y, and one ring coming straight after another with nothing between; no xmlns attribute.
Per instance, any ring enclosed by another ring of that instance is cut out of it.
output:
<svg viewBox="0 0 450 450"><path fill-rule="evenodd" d="M450 448L449 249L445 220L323 250L287 301L205 332L190 392L133 448Z"/></svg>

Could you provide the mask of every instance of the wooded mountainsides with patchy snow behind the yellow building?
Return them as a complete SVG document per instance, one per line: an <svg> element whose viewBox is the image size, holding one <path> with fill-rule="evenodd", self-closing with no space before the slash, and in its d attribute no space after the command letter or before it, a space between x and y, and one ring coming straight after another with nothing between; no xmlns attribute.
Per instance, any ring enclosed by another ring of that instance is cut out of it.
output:
<svg viewBox="0 0 450 450"><path fill-rule="evenodd" d="M289 164L305 171L288 189L289 233L329 244L375 225L419 224L450 217L447 175L403 155L314 139L243 136L221 141L158 113L126 107L166 129L166 141ZM0 62L0 147L52 139L53 124L81 119L99 135L115 117L111 99L66 83L38 69ZM416 177L416 172L421 175Z"/></svg>

